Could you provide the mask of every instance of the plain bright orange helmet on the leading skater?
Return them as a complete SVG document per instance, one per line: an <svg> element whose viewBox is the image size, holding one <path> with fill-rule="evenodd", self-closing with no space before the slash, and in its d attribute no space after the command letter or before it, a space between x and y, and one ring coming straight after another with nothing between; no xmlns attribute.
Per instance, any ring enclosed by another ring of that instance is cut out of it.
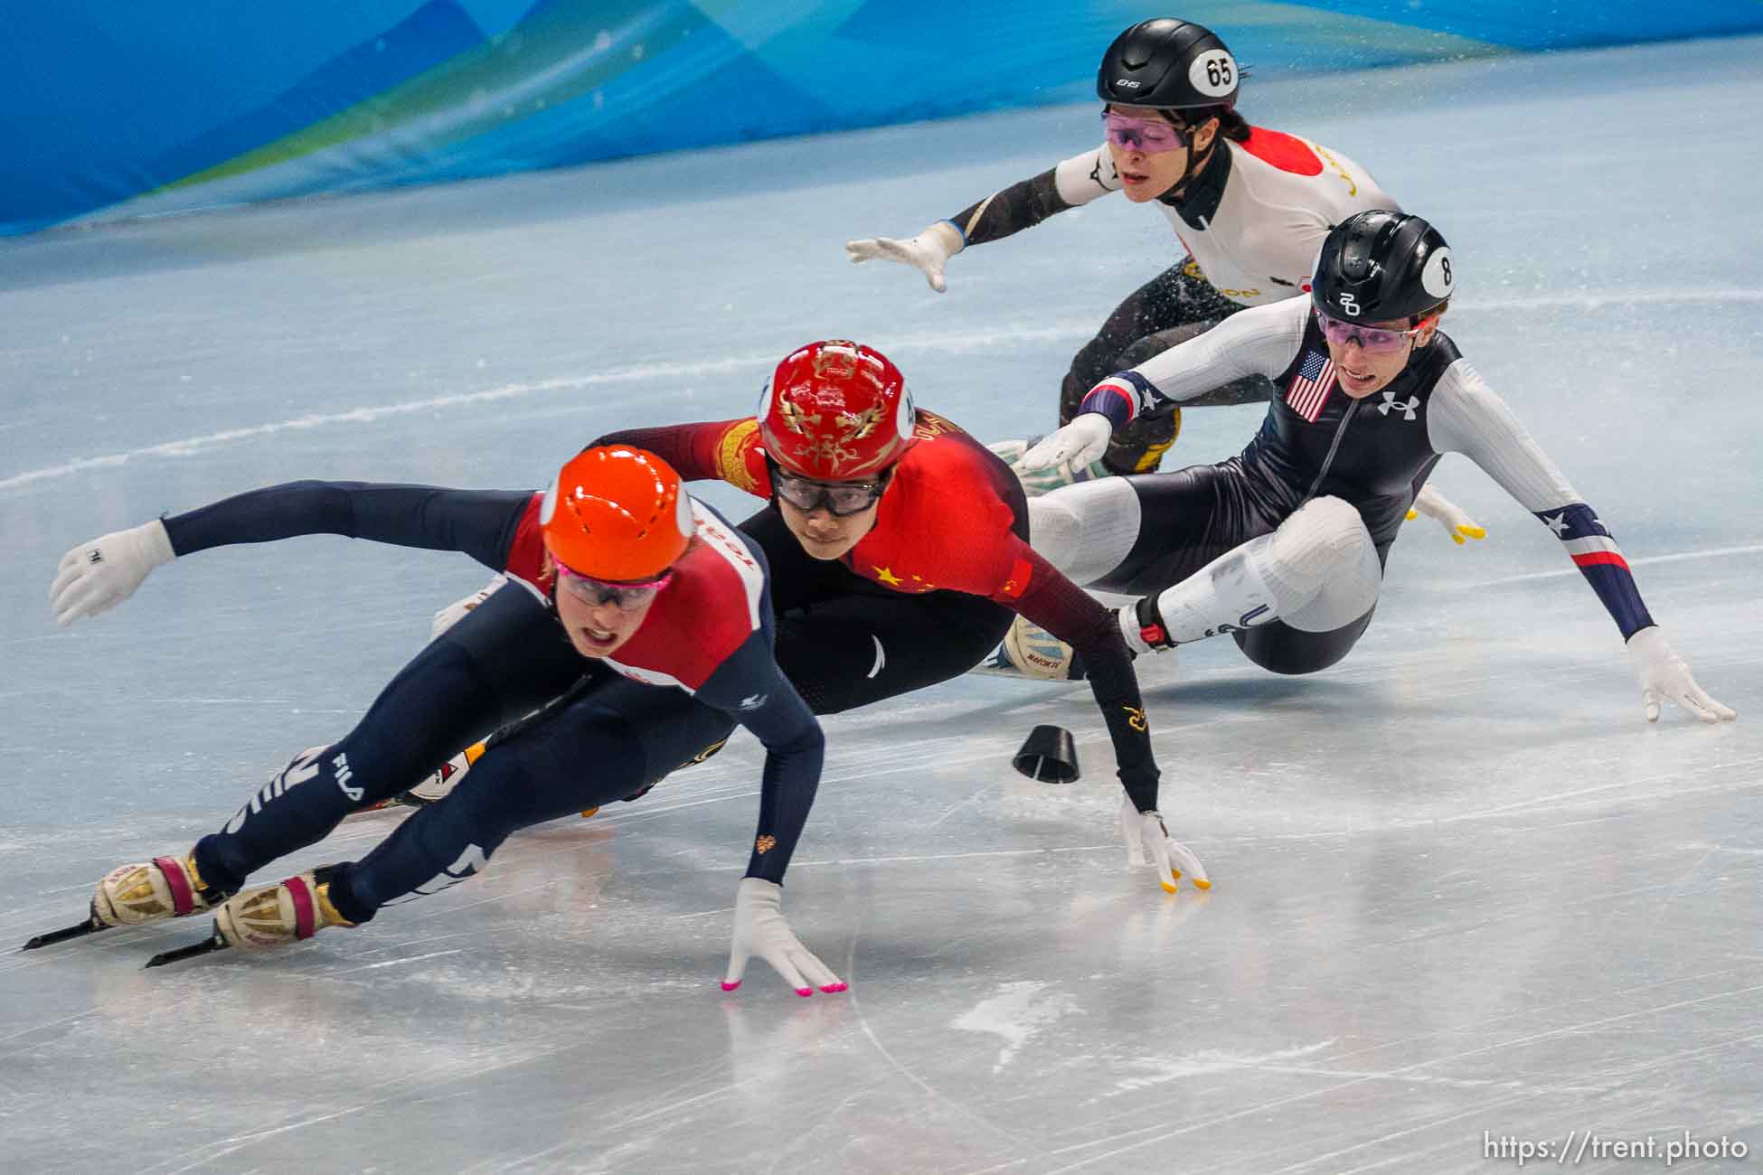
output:
<svg viewBox="0 0 1763 1175"><path fill-rule="evenodd" d="M594 580L658 580L691 543L691 495L654 453L629 446L582 449L559 470L539 506L545 550Z"/></svg>

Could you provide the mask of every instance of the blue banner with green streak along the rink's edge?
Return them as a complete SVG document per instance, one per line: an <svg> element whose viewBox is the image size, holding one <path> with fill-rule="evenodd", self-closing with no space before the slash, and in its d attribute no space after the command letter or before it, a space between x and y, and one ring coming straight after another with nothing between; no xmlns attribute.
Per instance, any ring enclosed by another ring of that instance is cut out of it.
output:
<svg viewBox="0 0 1763 1175"><path fill-rule="evenodd" d="M1142 4L14 5L0 234L1093 95ZM1763 32L1759 0L1201 2L1271 76Z"/></svg>

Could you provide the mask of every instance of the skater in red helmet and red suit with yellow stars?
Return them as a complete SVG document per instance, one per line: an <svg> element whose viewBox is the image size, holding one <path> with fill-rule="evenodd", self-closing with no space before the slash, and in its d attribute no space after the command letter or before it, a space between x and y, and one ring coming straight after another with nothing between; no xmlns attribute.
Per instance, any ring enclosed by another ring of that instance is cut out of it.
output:
<svg viewBox="0 0 1763 1175"><path fill-rule="evenodd" d="M978 664L1014 615L1088 666L1125 786L1128 847L1151 849L1174 888L1209 884L1158 816L1158 768L1132 657L1112 613L1030 546L1010 469L913 403L873 347L792 351L753 418L638 428L598 444L661 454L686 481L719 479L770 506L740 528L765 550L777 662L816 713L945 682Z"/></svg>

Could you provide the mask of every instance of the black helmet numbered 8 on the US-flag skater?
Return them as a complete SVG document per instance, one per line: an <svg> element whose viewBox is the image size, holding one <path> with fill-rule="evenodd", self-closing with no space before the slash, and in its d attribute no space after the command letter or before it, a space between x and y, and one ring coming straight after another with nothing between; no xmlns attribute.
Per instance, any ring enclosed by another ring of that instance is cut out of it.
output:
<svg viewBox="0 0 1763 1175"><path fill-rule="evenodd" d="M1439 229L1403 211L1361 211L1322 238L1310 299L1329 317L1414 319L1442 305L1456 278Z"/></svg>

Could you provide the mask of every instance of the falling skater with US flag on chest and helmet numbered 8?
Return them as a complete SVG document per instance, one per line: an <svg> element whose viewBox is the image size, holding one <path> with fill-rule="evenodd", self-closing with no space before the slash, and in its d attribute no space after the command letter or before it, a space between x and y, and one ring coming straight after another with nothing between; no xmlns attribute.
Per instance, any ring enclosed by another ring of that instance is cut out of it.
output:
<svg viewBox="0 0 1763 1175"><path fill-rule="evenodd" d="M1225 381L1266 375L1275 398L1227 462L1033 499L1035 548L1079 583L1144 594L1120 610L1134 650L1231 632L1275 673L1313 673L1365 632L1410 504L1440 456L1462 453L1560 539L1597 592L1648 722L1664 701L1703 722L1737 717L1666 643L1604 521L1439 331L1453 264L1426 220L1358 213L1324 240L1310 298L1252 307L1097 384L1024 467L1082 467L1120 425Z"/></svg>

